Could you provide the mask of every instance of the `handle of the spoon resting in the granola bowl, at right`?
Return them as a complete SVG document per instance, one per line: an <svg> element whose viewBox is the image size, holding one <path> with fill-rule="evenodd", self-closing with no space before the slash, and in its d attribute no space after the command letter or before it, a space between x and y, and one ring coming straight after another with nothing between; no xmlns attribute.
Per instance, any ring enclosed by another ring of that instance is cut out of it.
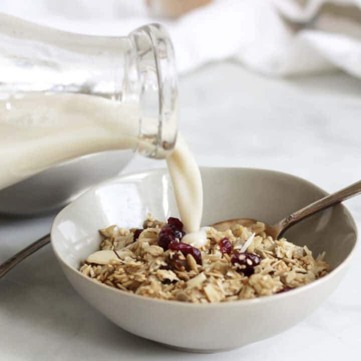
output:
<svg viewBox="0 0 361 361"><path fill-rule="evenodd" d="M356 196L361 193L361 180L335 192L329 196L321 198L320 200L311 203L310 205L293 212L288 217L284 218L278 224L279 234L281 235L287 228L295 223L317 213L328 207L334 206L337 203L345 201L348 198Z"/></svg>

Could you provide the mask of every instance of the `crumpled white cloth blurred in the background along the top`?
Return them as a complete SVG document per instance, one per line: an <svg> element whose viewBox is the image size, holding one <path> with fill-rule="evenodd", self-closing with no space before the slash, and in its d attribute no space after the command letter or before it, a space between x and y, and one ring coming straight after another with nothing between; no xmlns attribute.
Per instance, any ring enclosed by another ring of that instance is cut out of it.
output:
<svg viewBox="0 0 361 361"><path fill-rule="evenodd" d="M168 0L169 1L169 0ZM361 0L214 0L177 20L148 15L143 0L2 0L0 11L68 31L126 35L161 22L177 68L234 58L268 75L339 68L361 77Z"/></svg>

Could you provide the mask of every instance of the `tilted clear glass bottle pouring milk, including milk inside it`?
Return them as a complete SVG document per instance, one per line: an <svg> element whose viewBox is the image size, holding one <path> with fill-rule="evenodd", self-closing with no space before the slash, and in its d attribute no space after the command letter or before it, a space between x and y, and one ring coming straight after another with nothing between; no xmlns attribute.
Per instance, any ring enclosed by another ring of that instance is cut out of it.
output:
<svg viewBox="0 0 361 361"><path fill-rule="evenodd" d="M0 15L0 190L104 150L164 158L175 144L176 98L160 25L98 37Z"/></svg>

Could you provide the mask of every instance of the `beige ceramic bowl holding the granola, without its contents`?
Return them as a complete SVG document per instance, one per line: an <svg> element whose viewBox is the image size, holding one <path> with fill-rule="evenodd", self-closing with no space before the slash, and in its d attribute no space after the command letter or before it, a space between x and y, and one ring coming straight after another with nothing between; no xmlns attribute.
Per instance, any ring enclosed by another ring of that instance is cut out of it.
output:
<svg viewBox="0 0 361 361"><path fill-rule="evenodd" d="M304 179L270 170L202 168L202 177L204 225L236 217L273 224L326 194ZM192 351L239 347L303 320L341 281L357 238L355 223L341 205L303 221L286 237L315 255L325 250L332 272L290 292L229 303L154 300L98 284L77 270L98 249L99 228L139 227L147 212L160 220L177 216L165 169L121 176L86 192L56 217L52 245L74 288L106 317L136 335Z"/></svg>

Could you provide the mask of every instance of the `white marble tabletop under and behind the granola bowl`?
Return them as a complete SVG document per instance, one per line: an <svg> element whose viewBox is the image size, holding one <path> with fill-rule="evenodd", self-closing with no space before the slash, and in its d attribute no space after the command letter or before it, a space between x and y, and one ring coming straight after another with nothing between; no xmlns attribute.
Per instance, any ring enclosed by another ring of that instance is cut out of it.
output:
<svg viewBox="0 0 361 361"><path fill-rule="evenodd" d="M361 179L360 81L344 74L267 79L224 63L187 75L179 88L180 127L200 164L283 170L329 192ZM126 171L163 165L136 157ZM361 226L361 197L346 205ZM47 233L53 217L0 218L0 262ZM117 328L75 293L46 247L0 279L0 360L355 359L361 353L360 261L358 248L341 285L302 323L257 344L206 355Z"/></svg>

